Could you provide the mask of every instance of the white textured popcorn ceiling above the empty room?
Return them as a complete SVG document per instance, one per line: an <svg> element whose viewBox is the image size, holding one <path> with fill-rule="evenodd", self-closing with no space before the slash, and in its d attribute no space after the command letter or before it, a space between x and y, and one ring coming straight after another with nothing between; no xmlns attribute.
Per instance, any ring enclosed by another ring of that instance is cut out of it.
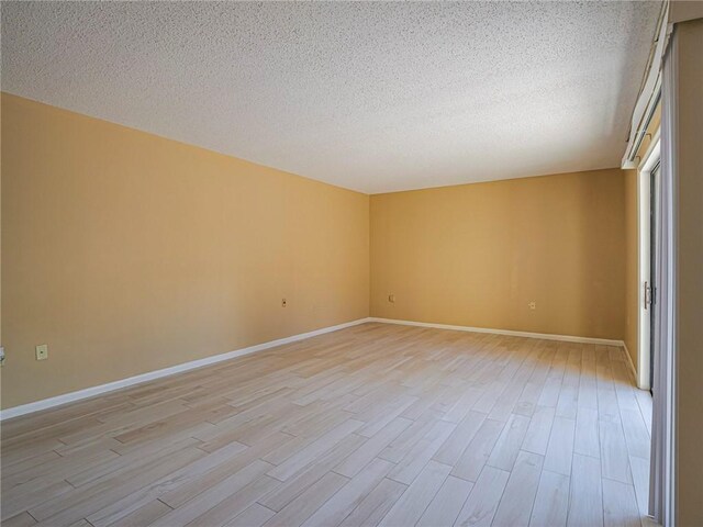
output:
<svg viewBox="0 0 703 527"><path fill-rule="evenodd" d="M2 89L364 192L618 165L659 2L2 2Z"/></svg>

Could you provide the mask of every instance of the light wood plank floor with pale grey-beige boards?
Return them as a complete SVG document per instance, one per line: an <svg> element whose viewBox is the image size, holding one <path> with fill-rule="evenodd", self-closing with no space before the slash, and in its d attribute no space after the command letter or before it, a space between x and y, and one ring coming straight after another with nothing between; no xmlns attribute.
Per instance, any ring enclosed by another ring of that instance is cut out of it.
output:
<svg viewBox="0 0 703 527"><path fill-rule="evenodd" d="M615 347L365 324L2 424L2 525L640 525Z"/></svg>

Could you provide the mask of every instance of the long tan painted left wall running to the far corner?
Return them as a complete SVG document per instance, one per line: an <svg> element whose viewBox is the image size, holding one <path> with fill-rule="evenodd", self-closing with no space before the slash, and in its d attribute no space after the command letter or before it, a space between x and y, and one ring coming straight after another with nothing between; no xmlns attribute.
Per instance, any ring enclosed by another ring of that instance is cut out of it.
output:
<svg viewBox="0 0 703 527"><path fill-rule="evenodd" d="M368 316L365 194L8 94L2 139L2 407Z"/></svg>

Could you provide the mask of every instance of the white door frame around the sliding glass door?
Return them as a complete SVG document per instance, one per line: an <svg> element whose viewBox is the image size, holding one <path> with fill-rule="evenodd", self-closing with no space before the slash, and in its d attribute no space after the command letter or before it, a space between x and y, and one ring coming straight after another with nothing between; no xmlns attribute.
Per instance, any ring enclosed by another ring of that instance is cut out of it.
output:
<svg viewBox="0 0 703 527"><path fill-rule="evenodd" d="M661 145L659 141L659 130L657 130L649 143L643 160L637 167L637 214L638 214L638 235L639 235L639 255L638 255L638 350L637 350L637 388L640 390L650 390L650 321L651 309L645 309L645 282L651 281L651 222L650 222L650 180L651 171L659 164L661 157ZM651 285L651 284L650 284Z"/></svg>

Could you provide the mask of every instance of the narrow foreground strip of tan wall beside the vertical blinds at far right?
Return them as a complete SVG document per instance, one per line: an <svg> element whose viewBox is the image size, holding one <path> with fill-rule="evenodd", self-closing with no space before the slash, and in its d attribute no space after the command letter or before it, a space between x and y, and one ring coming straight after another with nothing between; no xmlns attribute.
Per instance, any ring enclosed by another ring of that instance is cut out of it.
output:
<svg viewBox="0 0 703 527"><path fill-rule="evenodd" d="M679 38L678 525L703 525L703 19Z"/></svg>

